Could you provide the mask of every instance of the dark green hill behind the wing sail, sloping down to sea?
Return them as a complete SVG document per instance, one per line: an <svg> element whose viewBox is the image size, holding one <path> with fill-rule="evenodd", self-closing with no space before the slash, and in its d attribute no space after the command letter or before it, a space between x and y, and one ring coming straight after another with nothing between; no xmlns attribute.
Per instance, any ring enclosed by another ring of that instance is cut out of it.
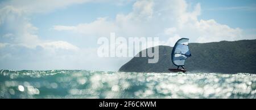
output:
<svg viewBox="0 0 256 110"><path fill-rule="evenodd" d="M256 73L256 39L189 43L192 56L185 61L188 72ZM143 50L146 51L146 50ZM158 63L149 64L148 57L133 58L121 72L169 72L176 68L171 62L172 47L159 46Z"/></svg>

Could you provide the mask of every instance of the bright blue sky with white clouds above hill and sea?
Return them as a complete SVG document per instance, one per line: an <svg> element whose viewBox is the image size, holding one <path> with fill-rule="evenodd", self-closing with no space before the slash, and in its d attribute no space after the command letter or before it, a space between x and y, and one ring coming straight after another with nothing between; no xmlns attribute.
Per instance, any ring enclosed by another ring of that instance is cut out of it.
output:
<svg viewBox="0 0 256 110"><path fill-rule="evenodd" d="M0 69L118 71L131 58L100 58L100 37L205 43L256 39L254 0L2 0Z"/></svg>

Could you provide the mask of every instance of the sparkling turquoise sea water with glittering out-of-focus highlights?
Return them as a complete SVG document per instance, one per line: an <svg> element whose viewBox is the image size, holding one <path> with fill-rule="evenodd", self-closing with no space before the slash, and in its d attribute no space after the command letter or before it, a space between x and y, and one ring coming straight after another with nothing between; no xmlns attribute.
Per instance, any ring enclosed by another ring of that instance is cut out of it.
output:
<svg viewBox="0 0 256 110"><path fill-rule="evenodd" d="M0 98L256 98L256 74L1 70Z"/></svg>

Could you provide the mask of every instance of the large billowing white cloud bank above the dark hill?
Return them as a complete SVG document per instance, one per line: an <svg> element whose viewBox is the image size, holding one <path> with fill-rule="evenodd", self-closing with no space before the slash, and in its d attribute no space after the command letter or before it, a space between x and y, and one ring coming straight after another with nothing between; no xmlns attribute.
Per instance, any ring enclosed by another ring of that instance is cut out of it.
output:
<svg viewBox="0 0 256 110"><path fill-rule="evenodd" d="M126 15L117 14L114 20L104 17L76 26L57 25L54 29L74 30L84 36L109 36L110 32L115 32L122 37L160 37L164 41L180 36L201 43L246 38L242 29L230 28L213 19L199 20L200 14L200 3L188 10L188 3L184 0L137 1L133 11Z"/></svg>

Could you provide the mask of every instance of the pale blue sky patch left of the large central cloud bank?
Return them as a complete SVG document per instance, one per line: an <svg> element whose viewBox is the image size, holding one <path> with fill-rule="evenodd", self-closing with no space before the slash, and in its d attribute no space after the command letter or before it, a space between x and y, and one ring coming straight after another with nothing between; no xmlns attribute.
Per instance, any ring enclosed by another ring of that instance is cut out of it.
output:
<svg viewBox="0 0 256 110"><path fill-rule="evenodd" d="M127 5L115 5L114 3L85 3L72 5L49 12L47 14L36 14L31 16L31 23L39 28L38 34L43 36L43 39L63 39L82 47L90 47L84 45L80 39L73 39L74 33L63 33L53 31L53 25L77 25L80 23L90 23L98 17L108 17L115 19L117 14L128 14L132 10L132 3ZM43 23L42 23L43 21ZM78 35L79 36L79 35Z"/></svg>

